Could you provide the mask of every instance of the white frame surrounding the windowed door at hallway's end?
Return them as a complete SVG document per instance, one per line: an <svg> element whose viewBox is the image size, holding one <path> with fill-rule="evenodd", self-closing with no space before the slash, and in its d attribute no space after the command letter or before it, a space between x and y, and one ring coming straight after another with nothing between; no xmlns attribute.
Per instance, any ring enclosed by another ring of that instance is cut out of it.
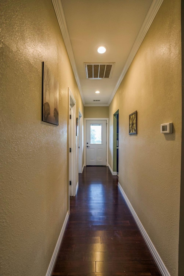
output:
<svg viewBox="0 0 184 276"><path fill-rule="evenodd" d="M107 146L106 146L106 166L109 164L109 118L84 118L84 166L86 166L86 121L87 120L106 120L107 121Z"/></svg>

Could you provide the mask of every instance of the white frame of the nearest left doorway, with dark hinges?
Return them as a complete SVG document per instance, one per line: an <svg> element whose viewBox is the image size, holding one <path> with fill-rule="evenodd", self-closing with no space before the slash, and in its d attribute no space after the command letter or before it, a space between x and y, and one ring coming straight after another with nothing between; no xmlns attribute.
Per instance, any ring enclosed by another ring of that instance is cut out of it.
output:
<svg viewBox="0 0 184 276"><path fill-rule="evenodd" d="M71 119L70 119L70 108L71 108ZM70 120L71 120L71 129L70 129ZM71 153L69 150L69 141L71 135ZM69 198L69 213L70 213L70 195L76 195L76 186L77 186L77 177L78 174L76 169L76 160L77 160L77 145L76 145L76 101L74 96L68 87L68 198ZM70 179L71 178L71 179ZM70 188L70 181L72 182Z"/></svg>

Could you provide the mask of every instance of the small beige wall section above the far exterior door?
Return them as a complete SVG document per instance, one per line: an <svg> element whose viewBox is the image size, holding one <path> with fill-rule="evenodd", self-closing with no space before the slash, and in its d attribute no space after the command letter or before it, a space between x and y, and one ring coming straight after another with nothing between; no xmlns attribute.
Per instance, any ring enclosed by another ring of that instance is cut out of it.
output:
<svg viewBox="0 0 184 276"><path fill-rule="evenodd" d="M84 118L108 118L109 107L108 106L85 106Z"/></svg>

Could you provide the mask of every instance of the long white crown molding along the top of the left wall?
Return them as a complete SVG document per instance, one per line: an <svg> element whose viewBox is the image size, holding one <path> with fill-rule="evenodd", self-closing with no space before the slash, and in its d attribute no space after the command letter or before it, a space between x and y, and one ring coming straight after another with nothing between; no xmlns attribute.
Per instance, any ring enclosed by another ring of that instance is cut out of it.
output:
<svg viewBox="0 0 184 276"><path fill-rule="evenodd" d="M60 26L60 30L61 30L63 39L64 39L66 50L68 52L68 56L69 56L69 59L70 59L70 63L71 63L73 72L74 72L76 83L77 83L79 92L81 94L83 105L85 105L83 90L82 90L81 82L80 82L79 76L78 76L78 71L77 71L77 67L76 67L76 62L75 62L75 58L74 58L72 44L71 44L71 41L70 41L70 35L68 33L68 27L67 27L67 24L66 24L66 19L65 19L65 15L64 15L62 2L61 2L61 0L52 0L52 4L53 4L54 10L55 10L55 14L56 14L59 26Z"/></svg>

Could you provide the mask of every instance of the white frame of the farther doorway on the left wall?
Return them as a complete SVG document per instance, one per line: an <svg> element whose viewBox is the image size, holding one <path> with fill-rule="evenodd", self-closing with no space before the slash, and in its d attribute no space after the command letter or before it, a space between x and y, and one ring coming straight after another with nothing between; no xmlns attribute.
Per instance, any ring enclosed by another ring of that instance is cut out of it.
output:
<svg viewBox="0 0 184 276"><path fill-rule="evenodd" d="M83 135L83 114L78 107L78 173L82 173L82 168L83 168L83 147L84 147L84 135Z"/></svg>

